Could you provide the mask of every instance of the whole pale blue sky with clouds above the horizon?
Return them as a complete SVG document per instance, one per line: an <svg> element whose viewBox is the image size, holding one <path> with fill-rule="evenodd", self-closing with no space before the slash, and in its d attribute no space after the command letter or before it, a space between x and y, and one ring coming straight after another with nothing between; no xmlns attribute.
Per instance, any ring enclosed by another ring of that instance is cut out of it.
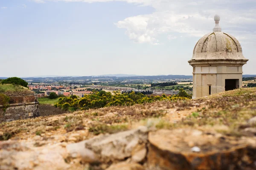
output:
<svg viewBox="0 0 256 170"><path fill-rule="evenodd" d="M216 13L256 74L254 0L0 0L0 77L191 75Z"/></svg>

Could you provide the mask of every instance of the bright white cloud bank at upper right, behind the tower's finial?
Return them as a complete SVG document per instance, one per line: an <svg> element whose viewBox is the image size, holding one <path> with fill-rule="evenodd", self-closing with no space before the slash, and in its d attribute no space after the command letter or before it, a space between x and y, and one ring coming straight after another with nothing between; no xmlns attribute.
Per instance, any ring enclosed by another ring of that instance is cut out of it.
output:
<svg viewBox="0 0 256 170"><path fill-rule="evenodd" d="M136 43L158 44L158 36L161 34L175 34L183 36L201 37L211 32L215 23L213 16L221 15L220 26L225 32L235 32L251 39L256 33L256 6L255 0L33 0L37 3L47 1L65 2L111 2L122 1L134 3L140 6L151 6L155 9L152 14L128 17L118 21L118 28L126 29L128 37ZM243 31L247 31L244 34ZM253 36L252 36L253 35ZM170 39L167 36L167 39Z"/></svg>

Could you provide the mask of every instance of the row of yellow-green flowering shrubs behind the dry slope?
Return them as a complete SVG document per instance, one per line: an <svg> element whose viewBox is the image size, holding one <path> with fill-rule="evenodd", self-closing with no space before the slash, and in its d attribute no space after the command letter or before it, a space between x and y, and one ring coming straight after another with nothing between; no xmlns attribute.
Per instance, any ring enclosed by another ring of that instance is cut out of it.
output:
<svg viewBox="0 0 256 170"><path fill-rule="evenodd" d="M180 96L183 95L183 96ZM177 101L177 100L189 100L191 98L184 90L180 92L180 95L143 95L142 93L120 93L114 91L114 95L111 92L105 91L93 91L90 95L85 95L83 98L78 98L76 95L69 97L61 97L55 107L59 107L64 110L86 110L86 109L97 109L101 107L109 106L132 106L134 104L151 103L154 101Z"/></svg>

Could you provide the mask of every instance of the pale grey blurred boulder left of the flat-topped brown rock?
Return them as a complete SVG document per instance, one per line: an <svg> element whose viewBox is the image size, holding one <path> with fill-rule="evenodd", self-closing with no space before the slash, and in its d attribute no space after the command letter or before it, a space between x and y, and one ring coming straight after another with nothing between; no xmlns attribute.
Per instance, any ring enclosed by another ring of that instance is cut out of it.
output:
<svg viewBox="0 0 256 170"><path fill-rule="evenodd" d="M139 127L111 135L100 135L67 145L71 157L81 157L85 162L118 162L128 158L131 162L143 161L148 142L147 127Z"/></svg>

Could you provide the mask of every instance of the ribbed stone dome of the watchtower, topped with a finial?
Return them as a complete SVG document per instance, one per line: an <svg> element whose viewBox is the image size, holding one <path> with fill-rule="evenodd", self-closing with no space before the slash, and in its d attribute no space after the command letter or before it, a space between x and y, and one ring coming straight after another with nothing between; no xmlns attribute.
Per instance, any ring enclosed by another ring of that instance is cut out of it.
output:
<svg viewBox="0 0 256 170"><path fill-rule="evenodd" d="M221 32L218 25L220 17L215 15L214 20L216 25L213 32L198 40L189 63L192 61L248 61L242 54L239 41L232 35Z"/></svg>

